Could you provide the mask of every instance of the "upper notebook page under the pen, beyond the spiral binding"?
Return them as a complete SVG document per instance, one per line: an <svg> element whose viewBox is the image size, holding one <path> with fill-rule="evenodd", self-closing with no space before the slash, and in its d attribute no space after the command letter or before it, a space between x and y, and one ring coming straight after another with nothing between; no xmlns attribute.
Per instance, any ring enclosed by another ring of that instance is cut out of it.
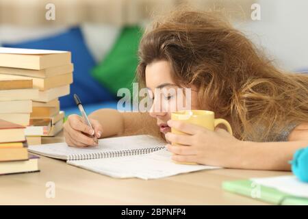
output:
<svg viewBox="0 0 308 219"><path fill-rule="evenodd" d="M65 142L55 144L41 144L29 146L32 153L53 157L57 159L68 159L73 155L98 155L113 151L124 151L133 149L151 149L164 146L166 143L157 140L153 136L125 136L117 138L103 138L99 140L99 146L89 146L86 148L75 148L68 146Z"/></svg>

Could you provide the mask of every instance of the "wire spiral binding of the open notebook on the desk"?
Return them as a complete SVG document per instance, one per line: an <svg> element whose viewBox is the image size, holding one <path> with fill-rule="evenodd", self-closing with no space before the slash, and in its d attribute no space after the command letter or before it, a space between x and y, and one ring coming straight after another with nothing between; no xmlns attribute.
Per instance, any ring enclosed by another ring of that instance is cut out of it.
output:
<svg viewBox="0 0 308 219"><path fill-rule="evenodd" d="M131 155L144 155L146 153L152 153L164 149L164 146L157 146L155 148L147 149L128 149L122 151L108 151L108 152L97 152L97 153L86 153L86 154L74 154L68 155L68 160L80 160L80 159L100 159L110 157L123 157Z"/></svg>

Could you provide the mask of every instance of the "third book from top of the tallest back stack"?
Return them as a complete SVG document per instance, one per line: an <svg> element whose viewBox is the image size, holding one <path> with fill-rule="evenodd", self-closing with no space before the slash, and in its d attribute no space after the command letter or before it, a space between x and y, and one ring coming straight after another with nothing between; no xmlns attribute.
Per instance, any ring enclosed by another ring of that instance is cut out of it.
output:
<svg viewBox="0 0 308 219"><path fill-rule="evenodd" d="M73 73L66 73L64 75L55 75L52 77L45 77L45 78L0 74L0 80L14 81L14 79L19 79L19 80L31 79L33 80L33 88L38 88L38 90L48 90L51 88L65 86L67 84L73 83Z"/></svg>

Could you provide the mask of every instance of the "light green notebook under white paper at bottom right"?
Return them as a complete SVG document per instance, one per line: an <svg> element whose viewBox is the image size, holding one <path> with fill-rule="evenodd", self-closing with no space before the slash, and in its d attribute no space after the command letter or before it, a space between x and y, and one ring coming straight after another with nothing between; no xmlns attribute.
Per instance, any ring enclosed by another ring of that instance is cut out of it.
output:
<svg viewBox="0 0 308 219"><path fill-rule="evenodd" d="M292 196L274 188L258 185L251 180L225 181L222 183L222 188L274 205L308 205L308 198Z"/></svg>

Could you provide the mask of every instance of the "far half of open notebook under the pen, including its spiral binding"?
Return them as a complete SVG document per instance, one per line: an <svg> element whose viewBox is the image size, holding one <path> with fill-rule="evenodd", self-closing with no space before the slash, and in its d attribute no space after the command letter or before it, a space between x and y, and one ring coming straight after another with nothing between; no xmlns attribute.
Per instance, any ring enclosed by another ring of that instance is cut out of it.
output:
<svg viewBox="0 0 308 219"><path fill-rule="evenodd" d="M141 155L163 149L165 144L153 136L140 135L103 138L99 140L98 146L86 148L72 147L61 142L29 146L28 150L56 159L81 160Z"/></svg>

